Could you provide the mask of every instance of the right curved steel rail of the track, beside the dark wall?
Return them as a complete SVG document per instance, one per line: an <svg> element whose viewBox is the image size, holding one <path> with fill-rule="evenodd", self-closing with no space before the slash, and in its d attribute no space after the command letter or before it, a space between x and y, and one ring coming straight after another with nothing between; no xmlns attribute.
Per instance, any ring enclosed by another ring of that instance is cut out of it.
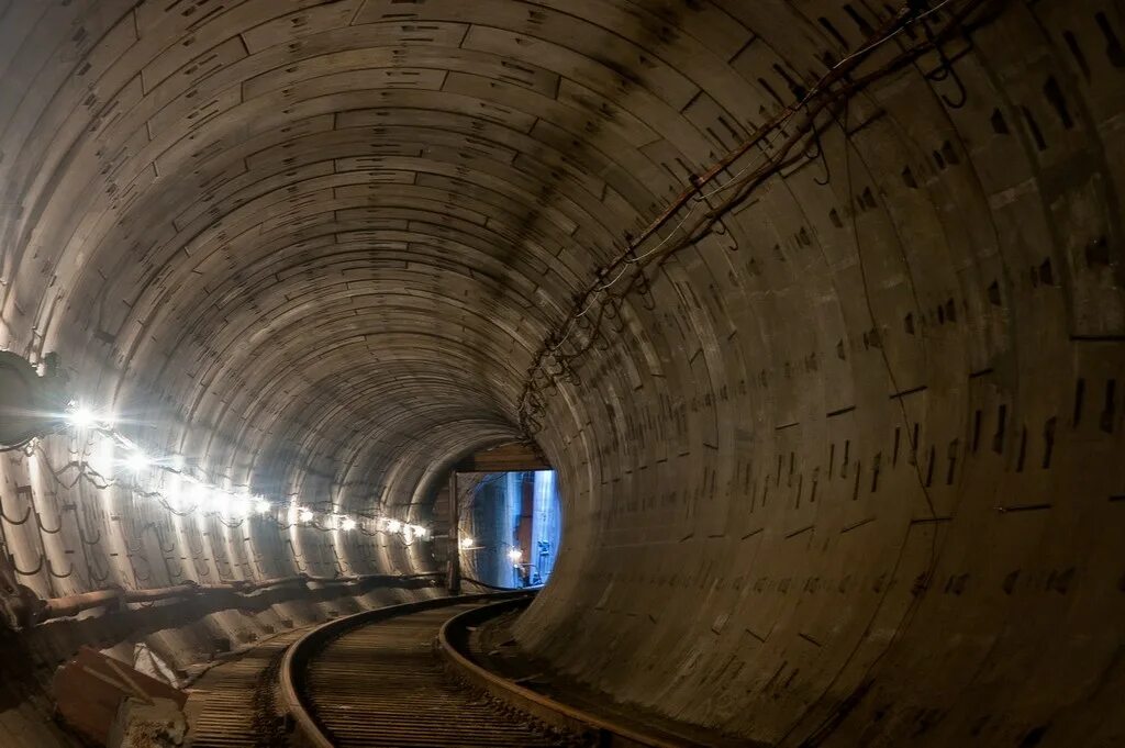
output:
<svg viewBox="0 0 1125 748"><path fill-rule="evenodd" d="M583 736L596 746L683 748L682 740L669 740L640 732L543 696L492 673L465 655L468 651L468 634L474 627L513 609L522 607L528 602L528 598L506 600L467 611L446 621L438 634L438 641L441 654L453 673L470 686L484 691L494 699L559 730Z"/></svg>

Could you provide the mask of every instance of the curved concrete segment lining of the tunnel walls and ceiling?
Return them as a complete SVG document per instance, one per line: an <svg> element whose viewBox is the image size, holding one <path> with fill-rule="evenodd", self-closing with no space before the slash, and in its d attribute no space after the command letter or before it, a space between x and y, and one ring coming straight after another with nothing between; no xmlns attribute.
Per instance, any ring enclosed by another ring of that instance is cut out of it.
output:
<svg viewBox="0 0 1125 748"><path fill-rule="evenodd" d="M1123 38L0 0L0 348L93 420L0 454L0 744L78 745L83 646L174 683L443 594L450 475L519 443L562 519L514 639L576 682L748 746L1125 745Z"/></svg>

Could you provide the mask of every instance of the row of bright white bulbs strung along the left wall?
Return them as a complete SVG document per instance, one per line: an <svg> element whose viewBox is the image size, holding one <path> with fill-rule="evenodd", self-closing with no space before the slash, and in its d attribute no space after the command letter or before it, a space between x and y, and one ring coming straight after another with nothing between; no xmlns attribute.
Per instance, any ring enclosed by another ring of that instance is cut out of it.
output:
<svg viewBox="0 0 1125 748"><path fill-rule="evenodd" d="M143 450L130 439L115 429L114 418L81 403L71 403L65 413L66 423L75 430L86 430L101 434L124 451L124 457L117 465L125 469L127 477L140 484L143 476L161 471L169 476L171 489L153 492L159 494L166 505L176 512L222 515L233 519L245 519L253 514L270 514L273 504L264 496L251 494L248 490L227 490L191 475L182 454L155 457ZM288 508L288 524L306 524L322 530L342 530L350 532L359 526L361 520L342 513L317 513L307 506L291 504ZM316 523L316 524L314 524ZM429 537L429 529L400 522L393 517L380 516L374 520L375 530L400 534L406 542Z"/></svg>

